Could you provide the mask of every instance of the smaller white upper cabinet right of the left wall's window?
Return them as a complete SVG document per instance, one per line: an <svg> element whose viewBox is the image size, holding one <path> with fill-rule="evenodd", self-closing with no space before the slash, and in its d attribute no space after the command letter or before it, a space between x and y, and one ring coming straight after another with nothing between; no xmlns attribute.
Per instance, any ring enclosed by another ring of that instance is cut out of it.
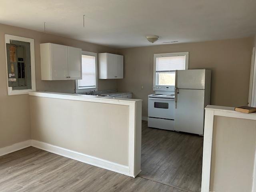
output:
<svg viewBox="0 0 256 192"><path fill-rule="evenodd" d="M99 78L122 79L124 78L124 56L99 53Z"/></svg>

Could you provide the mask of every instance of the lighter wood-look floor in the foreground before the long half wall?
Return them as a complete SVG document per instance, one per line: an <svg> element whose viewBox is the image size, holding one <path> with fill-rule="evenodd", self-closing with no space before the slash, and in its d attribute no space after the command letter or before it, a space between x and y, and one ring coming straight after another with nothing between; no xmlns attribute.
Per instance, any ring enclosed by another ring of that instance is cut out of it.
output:
<svg viewBox="0 0 256 192"><path fill-rule="evenodd" d="M0 157L0 192L184 192L28 147Z"/></svg>

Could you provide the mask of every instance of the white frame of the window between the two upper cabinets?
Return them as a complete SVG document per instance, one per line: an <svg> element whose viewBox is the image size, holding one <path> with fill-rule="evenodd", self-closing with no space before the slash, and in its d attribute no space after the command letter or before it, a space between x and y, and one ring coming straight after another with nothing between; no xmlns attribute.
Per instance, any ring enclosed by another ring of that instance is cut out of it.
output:
<svg viewBox="0 0 256 192"><path fill-rule="evenodd" d="M95 52L83 51L82 55L94 56L95 57L95 86L88 88L78 87L78 80L76 80L76 93L88 92L88 91L98 91L98 54Z"/></svg>

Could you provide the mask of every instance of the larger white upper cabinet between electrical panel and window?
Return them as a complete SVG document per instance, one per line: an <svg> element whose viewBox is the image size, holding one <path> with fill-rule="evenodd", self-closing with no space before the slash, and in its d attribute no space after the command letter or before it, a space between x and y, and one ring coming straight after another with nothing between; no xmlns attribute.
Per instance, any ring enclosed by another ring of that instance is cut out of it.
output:
<svg viewBox="0 0 256 192"><path fill-rule="evenodd" d="M82 49L40 44L42 80L82 79Z"/></svg>

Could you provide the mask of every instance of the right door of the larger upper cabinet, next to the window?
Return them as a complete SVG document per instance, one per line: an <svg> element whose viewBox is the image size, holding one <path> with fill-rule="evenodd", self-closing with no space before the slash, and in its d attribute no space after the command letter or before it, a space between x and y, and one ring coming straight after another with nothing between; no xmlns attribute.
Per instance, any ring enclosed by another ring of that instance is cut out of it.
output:
<svg viewBox="0 0 256 192"><path fill-rule="evenodd" d="M82 50L68 46L68 77L70 80L82 79Z"/></svg>

